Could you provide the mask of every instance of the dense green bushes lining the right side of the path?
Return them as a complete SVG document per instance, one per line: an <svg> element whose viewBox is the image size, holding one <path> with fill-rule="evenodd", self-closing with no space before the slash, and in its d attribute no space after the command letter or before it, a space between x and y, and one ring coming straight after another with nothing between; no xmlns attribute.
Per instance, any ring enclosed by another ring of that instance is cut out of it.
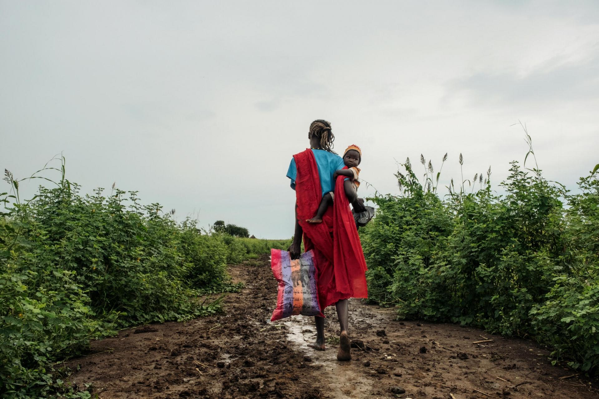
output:
<svg viewBox="0 0 599 399"><path fill-rule="evenodd" d="M444 200L430 163L423 185L404 167L401 196L374 198L376 218L361 231L370 300L404 318L533 337L556 359L596 372L599 165L575 195L513 162L504 195L492 194L489 170L484 184L478 173L458 190L452 181Z"/></svg>

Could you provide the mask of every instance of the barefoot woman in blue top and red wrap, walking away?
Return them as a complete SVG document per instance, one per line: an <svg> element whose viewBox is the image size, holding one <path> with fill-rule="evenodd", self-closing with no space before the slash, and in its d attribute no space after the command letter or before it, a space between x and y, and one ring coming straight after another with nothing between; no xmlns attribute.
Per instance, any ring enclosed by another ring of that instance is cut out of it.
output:
<svg viewBox="0 0 599 399"><path fill-rule="evenodd" d="M366 298L366 261L344 192L345 176L333 179L335 170L344 169L343 159L332 151L335 136L331 123L319 119L310 124L308 132L310 148L295 154L287 172L291 188L295 190L295 234L289 247L292 259L299 257L301 239L305 251L314 251L317 269L317 288L320 308L335 304L339 327L339 349L337 359L347 361L350 340L347 326L348 298ZM322 223L308 223L316 213L323 194L335 193L335 203L329 206ZM325 350L325 321L315 317L316 343L311 348Z"/></svg>

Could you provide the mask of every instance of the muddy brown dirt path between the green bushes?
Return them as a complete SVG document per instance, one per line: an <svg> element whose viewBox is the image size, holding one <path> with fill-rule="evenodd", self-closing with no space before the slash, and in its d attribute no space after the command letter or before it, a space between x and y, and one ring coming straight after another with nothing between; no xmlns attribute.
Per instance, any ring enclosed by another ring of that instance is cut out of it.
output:
<svg viewBox="0 0 599 399"><path fill-rule="evenodd" d="M334 307L328 348L308 348L313 321L270 322L277 284L268 257L231 266L241 293L225 313L122 331L68 365L99 398L597 398L597 381L550 366L546 349L453 324L395 321L392 310L350 300L353 360L336 360ZM479 342L484 340L488 342ZM568 377L570 376L570 377ZM404 392L405 391L405 392ZM486 395L485 395L486 394Z"/></svg>

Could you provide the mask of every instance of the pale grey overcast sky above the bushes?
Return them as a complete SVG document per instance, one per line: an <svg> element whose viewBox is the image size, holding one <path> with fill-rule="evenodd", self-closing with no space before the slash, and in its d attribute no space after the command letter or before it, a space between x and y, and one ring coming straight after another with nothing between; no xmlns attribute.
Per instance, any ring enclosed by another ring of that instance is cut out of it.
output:
<svg viewBox="0 0 599 399"><path fill-rule="evenodd" d="M498 184L527 152L518 120L548 179L599 163L596 0L2 0L0 54L1 167L63 151L85 193L116 182L258 237L293 233L285 174L317 118L381 193L421 153L435 172L449 153L440 186L459 153Z"/></svg>

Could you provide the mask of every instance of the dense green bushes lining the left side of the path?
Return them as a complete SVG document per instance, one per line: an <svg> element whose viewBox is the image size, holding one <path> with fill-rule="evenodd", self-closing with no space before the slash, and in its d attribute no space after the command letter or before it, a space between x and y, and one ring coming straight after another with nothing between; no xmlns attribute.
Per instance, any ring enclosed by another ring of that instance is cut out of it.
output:
<svg viewBox="0 0 599 399"><path fill-rule="evenodd" d="M19 181L5 180L15 195L4 193L0 214L3 398L89 397L52 364L117 328L217 312L220 299L205 305L199 295L239 288L226 274L248 255L237 238L178 224L135 192L82 196L63 178L21 202Z"/></svg>

